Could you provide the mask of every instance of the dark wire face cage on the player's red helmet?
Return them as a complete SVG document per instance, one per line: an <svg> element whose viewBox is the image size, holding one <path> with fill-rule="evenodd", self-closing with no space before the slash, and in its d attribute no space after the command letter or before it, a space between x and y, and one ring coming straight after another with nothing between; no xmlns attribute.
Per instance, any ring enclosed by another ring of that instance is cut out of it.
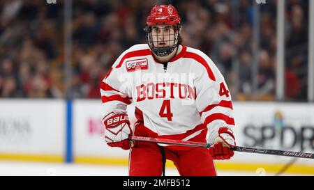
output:
<svg viewBox="0 0 314 190"><path fill-rule="evenodd" d="M181 25L146 26L147 44L156 56L168 56L179 45ZM163 39L163 40L160 40Z"/></svg>

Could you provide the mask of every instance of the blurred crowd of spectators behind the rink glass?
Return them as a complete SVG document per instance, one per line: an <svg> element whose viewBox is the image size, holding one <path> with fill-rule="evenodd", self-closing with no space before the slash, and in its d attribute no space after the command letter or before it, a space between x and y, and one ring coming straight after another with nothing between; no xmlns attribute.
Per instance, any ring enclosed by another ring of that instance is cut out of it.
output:
<svg viewBox="0 0 314 190"><path fill-rule="evenodd" d="M285 2L285 100L306 101L308 0ZM253 0L75 0L70 97L100 97L100 82L118 56L146 42L143 28L155 3L177 8L182 43L216 63L233 100L276 100L277 14L272 0L260 4L257 76L252 76ZM58 0L0 1L0 97L65 97L63 7Z"/></svg>

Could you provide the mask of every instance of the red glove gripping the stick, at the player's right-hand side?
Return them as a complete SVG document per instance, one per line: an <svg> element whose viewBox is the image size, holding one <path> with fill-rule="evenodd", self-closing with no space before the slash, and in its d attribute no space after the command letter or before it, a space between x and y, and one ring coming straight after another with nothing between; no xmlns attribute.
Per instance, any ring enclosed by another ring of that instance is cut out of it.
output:
<svg viewBox="0 0 314 190"><path fill-rule="evenodd" d="M230 150L230 148L235 145L231 129L220 127L214 144L209 148L209 153L213 159L230 159L234 155L233 150Z"/></svg>

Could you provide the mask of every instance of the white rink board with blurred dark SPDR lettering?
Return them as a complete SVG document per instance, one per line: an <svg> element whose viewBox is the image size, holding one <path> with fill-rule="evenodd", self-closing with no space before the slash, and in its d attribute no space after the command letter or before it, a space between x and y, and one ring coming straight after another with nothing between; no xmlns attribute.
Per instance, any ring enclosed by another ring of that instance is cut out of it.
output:
<svg viewBox="0 0 314 190"><path fill-rule="evenodd" d="M235 102L233 106L236 124L234 134L237 145L300 152L301 141L304 141L304 147L307 148L303 152L314 152L314 143L312 142L311 145L308 141L308 138L314 136L314 104ZM275 118L278 118L276 112L281 113L282 122L276 122ZM262 136L264 136L264 141L262 141ZM263 143L257 143L258 141ZM269 164L287 163L292 159L292 157L246 152L235 152L232 157L232 161ZM298 159L297 163L314 166L313 159Z"/></svg>

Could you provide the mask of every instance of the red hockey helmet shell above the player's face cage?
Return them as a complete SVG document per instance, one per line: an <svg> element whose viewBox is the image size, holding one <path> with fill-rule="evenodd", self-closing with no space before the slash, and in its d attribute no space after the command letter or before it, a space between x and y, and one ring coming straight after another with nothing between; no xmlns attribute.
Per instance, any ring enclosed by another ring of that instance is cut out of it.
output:
<svg viewBox="0 0 314 190"><path fill-rule="evenodd" d="M154 6L151 9L151 13L147 17L147 25L156 25L156 24L171 24L177 25L180 24L181 19L179 17L178 11L171 4Z"/></svg>

